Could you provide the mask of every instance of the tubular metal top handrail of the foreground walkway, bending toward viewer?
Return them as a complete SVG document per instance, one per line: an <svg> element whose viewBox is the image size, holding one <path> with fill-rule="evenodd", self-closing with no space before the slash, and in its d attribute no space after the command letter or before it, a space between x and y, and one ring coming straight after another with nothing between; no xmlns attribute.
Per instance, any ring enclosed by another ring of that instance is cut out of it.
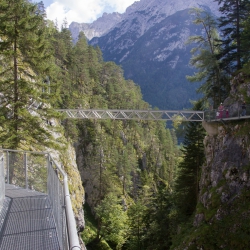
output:
<svg viewBox="0 0 250 250"><path fill-rule="evenodd" d="M30 153L30 154L39 154L39 155L47 155L50 161L53 162L56 169L62 174L63 176L63 190L64 190L64 204L66 210L66 225L67 225L67 232L68 232L68 239L69 239L69 249L76 250L81 249L78 239L78 234L76 230L76 222L75 217L72 209L72 203L70 199L70 193L68 188L68 177L67 174L62 170L62 168L55 162L53 157L49 152L39 152L39 151L25 151L25 150L14 150L14 149L0 149L3 152L17 152L17 153ZM0 160L4 157L4 155L0 156ZM26 185L27 187L27 185Z"/></svg>

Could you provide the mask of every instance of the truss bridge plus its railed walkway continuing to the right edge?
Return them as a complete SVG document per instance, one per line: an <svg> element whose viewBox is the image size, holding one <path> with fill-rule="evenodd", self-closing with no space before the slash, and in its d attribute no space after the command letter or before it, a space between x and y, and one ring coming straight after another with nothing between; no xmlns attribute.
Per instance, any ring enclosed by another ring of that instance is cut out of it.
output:
<svg viewBox="0 0 250 250"><path fill-rule="evenodd" d="M241 115L241 106L230 106L224 110L138 110L138 109L57 109L64 118L70 119L111 119L111 120L148 120L148 121L194 121L218 122L250 119L250 105L246 114Z"/></svg>

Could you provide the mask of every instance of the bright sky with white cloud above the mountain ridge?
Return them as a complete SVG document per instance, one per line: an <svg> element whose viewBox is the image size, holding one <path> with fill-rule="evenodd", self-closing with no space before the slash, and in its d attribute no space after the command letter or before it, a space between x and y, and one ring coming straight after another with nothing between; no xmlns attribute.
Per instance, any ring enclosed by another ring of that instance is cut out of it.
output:
<svg viewBox="0 0 250 250"><path fill-rule="evenodd" d="M34 0L33 2L40 2ZM135 0L42 0L46 8L47 18L57 21L61 27L66 18L68 25L78 23L92 23L104 12L125 12ZM140 0L137 0L140 1Z"/></svg>

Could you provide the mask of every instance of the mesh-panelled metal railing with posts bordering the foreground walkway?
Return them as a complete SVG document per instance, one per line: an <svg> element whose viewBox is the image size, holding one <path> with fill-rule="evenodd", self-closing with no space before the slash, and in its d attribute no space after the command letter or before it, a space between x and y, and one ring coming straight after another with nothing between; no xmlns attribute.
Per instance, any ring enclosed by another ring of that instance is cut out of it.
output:
<svg viewBox="0 0 250 250"><path fill-rule="evenodd" d="M67 175L47 152L3 149L5 183L48 194L60 249L81 249Z"/></svg>

